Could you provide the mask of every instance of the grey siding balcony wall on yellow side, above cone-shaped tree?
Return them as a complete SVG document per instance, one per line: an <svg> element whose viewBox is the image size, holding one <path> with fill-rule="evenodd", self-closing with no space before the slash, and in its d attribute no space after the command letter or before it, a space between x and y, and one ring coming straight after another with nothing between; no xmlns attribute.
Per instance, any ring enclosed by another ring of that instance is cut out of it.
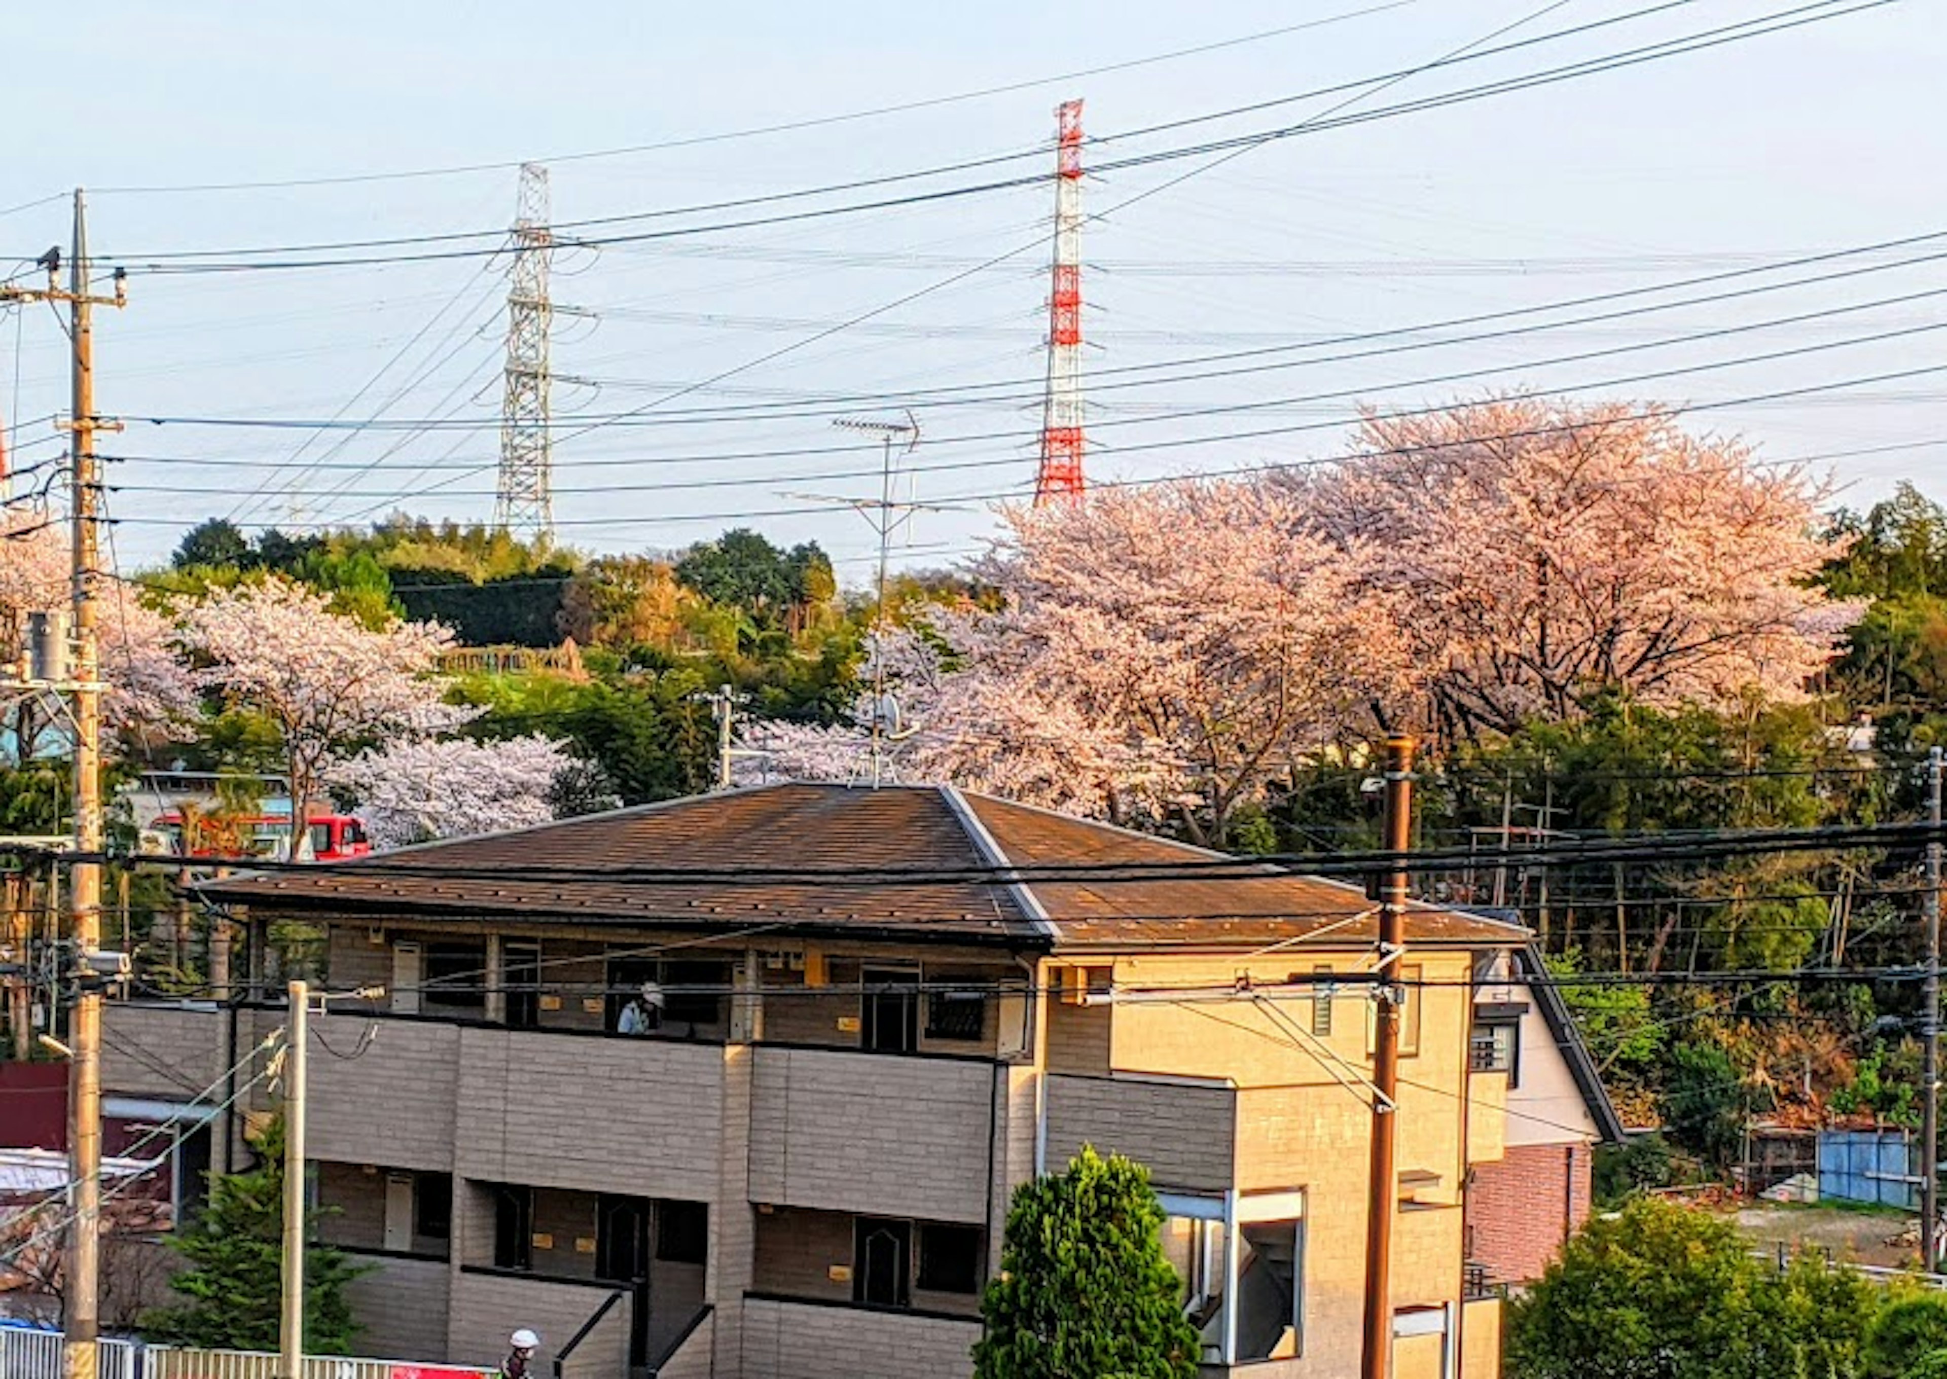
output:
<svg viewBox="0 0 1947 1379"><path fill-rule="evenodd" d="M1227 1188L1236 1163L1236 1093L1127 1077L1049 1077L1049 1171L1084 1143L1147 1165L1158 1188Z"/></svg>

